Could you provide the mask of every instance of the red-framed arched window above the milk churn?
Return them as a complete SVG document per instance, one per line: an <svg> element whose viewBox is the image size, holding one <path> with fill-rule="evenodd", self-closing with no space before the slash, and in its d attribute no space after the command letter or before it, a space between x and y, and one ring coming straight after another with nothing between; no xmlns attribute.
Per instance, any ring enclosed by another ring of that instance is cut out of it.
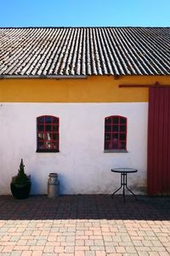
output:
<svg viewBox="0 0 170 256"><path fill-rule="evenodd" d="M59 118L37 117L37 152L59 152Z"/></svg>

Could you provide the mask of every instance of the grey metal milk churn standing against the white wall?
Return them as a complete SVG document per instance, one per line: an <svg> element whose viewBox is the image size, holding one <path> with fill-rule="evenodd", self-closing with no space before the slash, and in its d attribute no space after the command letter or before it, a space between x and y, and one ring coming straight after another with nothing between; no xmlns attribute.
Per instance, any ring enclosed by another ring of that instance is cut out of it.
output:
<svg viewBox="0 0 170 256"><path fill-rule="evenodd" d="M48 198L59 196L59 180L57 173L49 173L48 177Z"/></svg>

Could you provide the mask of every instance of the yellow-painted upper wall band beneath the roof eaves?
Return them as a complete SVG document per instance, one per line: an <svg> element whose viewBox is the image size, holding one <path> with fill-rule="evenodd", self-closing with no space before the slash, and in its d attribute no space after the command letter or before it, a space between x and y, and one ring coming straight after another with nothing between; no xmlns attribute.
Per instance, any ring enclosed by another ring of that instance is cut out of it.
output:
<svg viewBox="0 0 170 256"><path fill-rule="evenodd" d="M170 76L90 76L88 79L1 79L0 102L148 102L148 88L119 84L170 84Z"/></svg>

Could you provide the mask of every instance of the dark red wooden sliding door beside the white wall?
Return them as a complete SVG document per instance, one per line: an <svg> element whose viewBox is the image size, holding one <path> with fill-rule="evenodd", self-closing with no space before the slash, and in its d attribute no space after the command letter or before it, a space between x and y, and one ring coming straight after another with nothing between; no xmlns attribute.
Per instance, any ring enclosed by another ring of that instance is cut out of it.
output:
<svg viewBox="0 0 170 256"><path fill-rule="evenodd" d="M148 194L170 195L170 88L150 88Z"/></svg>

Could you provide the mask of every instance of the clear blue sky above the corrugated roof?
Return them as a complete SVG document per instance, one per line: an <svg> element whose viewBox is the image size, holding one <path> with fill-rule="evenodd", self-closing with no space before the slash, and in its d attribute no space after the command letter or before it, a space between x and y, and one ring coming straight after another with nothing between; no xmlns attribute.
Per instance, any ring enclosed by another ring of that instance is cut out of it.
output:
<svg viewBox="0 0 170 256"><path fill-rule="evenodd" d="M170 0L0 0L0 26L170 26Z"/></svg>

